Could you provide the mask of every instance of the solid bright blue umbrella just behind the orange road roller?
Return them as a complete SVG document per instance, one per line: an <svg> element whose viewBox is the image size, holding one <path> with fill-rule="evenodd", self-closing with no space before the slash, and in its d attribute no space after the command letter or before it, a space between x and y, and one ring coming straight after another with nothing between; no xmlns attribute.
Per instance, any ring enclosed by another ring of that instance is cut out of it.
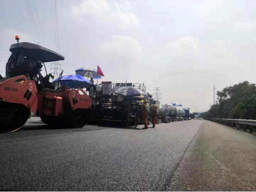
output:
<svg viewBox="0 0 256 192"><path fill-rule="evenodd" d="M57 82L58 79L55 79L53 82ZM61 77L61 85L67 84L68 87L78 89L78 88L87 88L90 87L91 82L86 78L76 74L76 75L66 75Z"/></svg>

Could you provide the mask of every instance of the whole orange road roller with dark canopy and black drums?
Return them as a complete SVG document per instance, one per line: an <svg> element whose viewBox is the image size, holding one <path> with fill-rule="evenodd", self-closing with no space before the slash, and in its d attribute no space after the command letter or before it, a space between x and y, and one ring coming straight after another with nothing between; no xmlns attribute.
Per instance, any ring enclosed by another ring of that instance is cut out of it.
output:
<svg viewBox="0 0 256 192"><path fill-rule="evenodd" d="M6 77L0 76L0 130L15 132L31 115L41 117L50 126L84 126L91 98L81 89L55 89L49 82L44 63L64 60L64 56L37 44L19 42L18 36L15 39L18 43L10 47Z"/></svg>

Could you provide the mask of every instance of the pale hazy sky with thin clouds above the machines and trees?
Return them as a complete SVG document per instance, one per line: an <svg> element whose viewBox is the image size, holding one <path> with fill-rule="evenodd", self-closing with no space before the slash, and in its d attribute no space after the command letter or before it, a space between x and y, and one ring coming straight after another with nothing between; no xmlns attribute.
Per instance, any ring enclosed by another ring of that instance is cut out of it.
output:
<svg viewBox="0 0 256 192"><path fill-rule="evenodd" d="M17 34L57 51L52 1L28 3L0 1L2 75ZM161 87L161 104L194 112L213 104L213 84L256 82L256 0L56 0L56 10L65 74L99 65L104 81Z"/></svg>

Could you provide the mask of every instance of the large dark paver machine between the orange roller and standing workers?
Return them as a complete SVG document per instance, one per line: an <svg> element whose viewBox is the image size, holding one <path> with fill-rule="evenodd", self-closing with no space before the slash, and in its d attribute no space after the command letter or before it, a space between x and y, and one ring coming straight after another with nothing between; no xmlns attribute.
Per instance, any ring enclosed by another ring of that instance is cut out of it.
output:
<svg viewBox="0 0 256 192"><path fill-rule="evenodd" d="M122 87L135 87L132 83L102 82L101 91L96 91L91 110L91 123L120 122L124 126L137 126L141 122L140 96L120 96L115 91ZM146 94L146 93L145 93Z"/></svg>

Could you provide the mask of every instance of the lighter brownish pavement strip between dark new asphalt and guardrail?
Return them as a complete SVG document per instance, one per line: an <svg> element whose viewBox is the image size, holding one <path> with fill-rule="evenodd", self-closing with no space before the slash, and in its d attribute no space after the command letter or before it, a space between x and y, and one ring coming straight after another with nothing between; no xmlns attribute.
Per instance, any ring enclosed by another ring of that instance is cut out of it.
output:
<svg viewBox="0 0 256 192"><path fill-rule="evenodd" d="M167 191L256 191L256 137L203 121Z"/></svg>

